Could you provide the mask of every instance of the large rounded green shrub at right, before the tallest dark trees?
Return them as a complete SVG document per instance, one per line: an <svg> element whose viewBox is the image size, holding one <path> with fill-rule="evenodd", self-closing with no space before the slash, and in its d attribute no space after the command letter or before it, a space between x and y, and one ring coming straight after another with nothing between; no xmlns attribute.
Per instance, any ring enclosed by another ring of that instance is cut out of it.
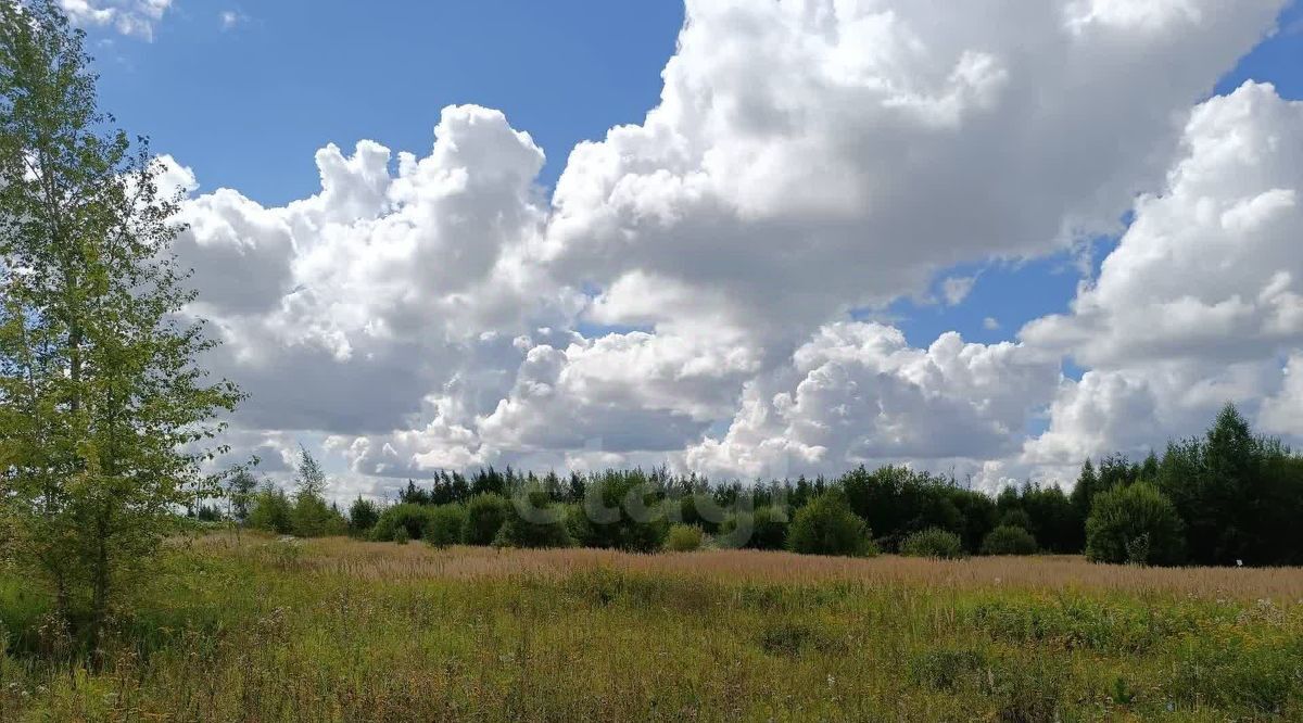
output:
<svg viewBox="0 0 1303 723"><path fill-rule="evenodd" d="M1148 482L1100 492L1085 521L1085 556L1095 563L1174 565L1184 559L1177 508Z"/></svg>

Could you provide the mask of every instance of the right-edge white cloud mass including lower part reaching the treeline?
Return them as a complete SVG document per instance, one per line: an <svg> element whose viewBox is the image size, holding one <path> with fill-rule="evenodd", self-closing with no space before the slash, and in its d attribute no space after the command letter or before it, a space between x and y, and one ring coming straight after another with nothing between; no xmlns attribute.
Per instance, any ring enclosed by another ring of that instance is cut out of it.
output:
<svg viewBox="0 0 1303 723"><path fill-rule="evenodd" d="M1226 401L1303 439L1303 103L1246 83L1195 108L1181 147L1070 313L1019 333L1092 367L1065 382L1024 466L1161 446Z"/></svg>

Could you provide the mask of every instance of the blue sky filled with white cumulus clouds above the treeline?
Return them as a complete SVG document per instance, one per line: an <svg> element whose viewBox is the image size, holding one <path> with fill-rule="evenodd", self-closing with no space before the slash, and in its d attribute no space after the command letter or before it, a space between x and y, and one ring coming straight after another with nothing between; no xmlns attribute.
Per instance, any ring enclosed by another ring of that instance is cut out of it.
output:
<svg viewBox="0 0 1303 723"><path fill-rule="evenodd" d="M186 193L232 455L909 464L1303 443L1286 0L63 0Z"/></svg>

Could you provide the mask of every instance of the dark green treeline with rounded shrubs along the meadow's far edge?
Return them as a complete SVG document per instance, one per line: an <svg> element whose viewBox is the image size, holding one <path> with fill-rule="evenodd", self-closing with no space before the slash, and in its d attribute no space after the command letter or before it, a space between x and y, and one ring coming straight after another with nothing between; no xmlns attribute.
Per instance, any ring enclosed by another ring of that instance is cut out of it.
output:
<svg viewBox="0 0 1303 723"><path fill-rule="evenodd" d="M1207 435L1173 443L1162 456L1087 461L1071 494L1028 483L992 496L904 466L752 486L665 468L568 475L489 468L440 472L425 485L409 481L392 504L358 498L345 516L322 502L323 482L306 482L323 477L310 455L302 460L293 495L270 486L251 494L249 525L437 546L1303 563L1303 542L1291 528L1303 512L1303 459L1255 436L1233 406Z"/></svg>

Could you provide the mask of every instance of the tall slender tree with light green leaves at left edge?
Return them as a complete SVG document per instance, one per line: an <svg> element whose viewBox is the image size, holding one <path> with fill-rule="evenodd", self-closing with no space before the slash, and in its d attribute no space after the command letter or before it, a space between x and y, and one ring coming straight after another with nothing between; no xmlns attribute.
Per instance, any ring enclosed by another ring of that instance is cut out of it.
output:
<svg viewBox="0 0 1303 723"><path fill-rule="evenodd" d="M52 1L0 3L0 487L7 545L98 655L241 399L195 360L181 225L143 142L108 129Z"/></svg>

